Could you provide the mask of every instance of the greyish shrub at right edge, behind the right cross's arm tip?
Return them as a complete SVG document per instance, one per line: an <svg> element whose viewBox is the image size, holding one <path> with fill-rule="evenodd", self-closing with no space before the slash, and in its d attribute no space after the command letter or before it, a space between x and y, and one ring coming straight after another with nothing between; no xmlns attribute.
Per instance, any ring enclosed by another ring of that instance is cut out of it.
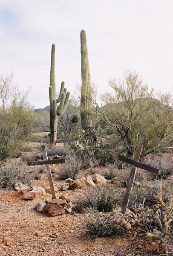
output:
<svg viewBox="0 0 173 256"><path fill-rule="evenodd" d="M159 174L151 173L150 177L153 179L166 179L173 174L173 157L164 158L164 155L156 155L153 160L147 161L149 165L160 169Z"/></svg>

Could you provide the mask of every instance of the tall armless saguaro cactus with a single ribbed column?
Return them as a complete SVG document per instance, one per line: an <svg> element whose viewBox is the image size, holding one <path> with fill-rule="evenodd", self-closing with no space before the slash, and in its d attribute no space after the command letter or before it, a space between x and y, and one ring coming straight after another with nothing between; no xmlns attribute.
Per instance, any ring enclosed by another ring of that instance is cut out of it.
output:
<svg viewBox="0 0 173 256"><path fill-rule="evenodd" d="M92 109L92 90L91 77L89 71L88 49L86 44L86 32L81 31L81 124L86 133L86 137L90 137L93 142L98 142L98 137L92 127L91 109Z"/></svg>

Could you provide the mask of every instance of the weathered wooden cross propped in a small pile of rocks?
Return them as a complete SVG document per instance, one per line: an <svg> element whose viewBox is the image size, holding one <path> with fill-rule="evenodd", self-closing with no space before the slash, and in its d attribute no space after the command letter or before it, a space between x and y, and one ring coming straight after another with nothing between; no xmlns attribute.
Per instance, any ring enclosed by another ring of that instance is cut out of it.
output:
<svg viewBox="0 0 173 256"><path fill-rule="evenodd" d="M46 166L46 172L47 172L47 176L48 176L48 180L49 180L49 186L50 186L50 190L51 190L51 194L52 194L52 200L53 199L58 199L58 197L55 193L55 189L54 189L54 185L53 185L53 179L52 179L52 173L51 173L51 169L50 169L49 164L66 163L66 160L64 158L63 159L48 160L45 145L41 146L41 151L43 153L43 160L42 161L27 162L27 164L28 164L28 166L36 166L36 165L43 165L43 164Z"/></svg>

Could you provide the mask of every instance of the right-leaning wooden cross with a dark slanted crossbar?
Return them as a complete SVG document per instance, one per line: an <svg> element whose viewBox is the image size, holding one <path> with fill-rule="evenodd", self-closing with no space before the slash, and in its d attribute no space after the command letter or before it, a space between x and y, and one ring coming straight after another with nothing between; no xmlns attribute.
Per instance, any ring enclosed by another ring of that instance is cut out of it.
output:
<svg viewBox="0 0 173 256"><path fill-rule="evenodd" d="M138 145L137 145L137 148L136 148L136 153L135 153L134 160L132 160L130 158L127 158L127 157L123 157L123 156L118 155L116 153L113 154L114 159L118 159L122 162L129 163L129 164L133 165L133 167L131 169L131 172L130 172L129 180L128 180L128 183L127 183L126 192L124 194L123 204L122 204L122 207L121 207L121 213L123 213L123 214L126 213L126 209L127 209L128 203L129 203L130 192L132 190L133 182L135 180L137 167L139 167L141 169L144 169L144 170L147 170L149 172L156 173L156 174L159 174L159 172L160 172L159 169L156 169L154 167L148 166L147 164L138 162L139 158L140 158L142 147L143 147L143 143L139 142Z"/></svg>

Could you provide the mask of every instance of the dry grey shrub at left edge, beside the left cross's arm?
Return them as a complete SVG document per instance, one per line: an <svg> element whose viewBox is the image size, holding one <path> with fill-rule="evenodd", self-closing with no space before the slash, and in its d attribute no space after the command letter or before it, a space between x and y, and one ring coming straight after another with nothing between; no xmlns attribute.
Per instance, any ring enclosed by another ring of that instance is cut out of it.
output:
<svg viewBox="0 0 173 256"><path fill-rule="evenodd" d="M40 168L26 166L25 163L9 161L0 166L0 187L14 187L16 182L30 184L30 180L40 178Z"/></svg>

